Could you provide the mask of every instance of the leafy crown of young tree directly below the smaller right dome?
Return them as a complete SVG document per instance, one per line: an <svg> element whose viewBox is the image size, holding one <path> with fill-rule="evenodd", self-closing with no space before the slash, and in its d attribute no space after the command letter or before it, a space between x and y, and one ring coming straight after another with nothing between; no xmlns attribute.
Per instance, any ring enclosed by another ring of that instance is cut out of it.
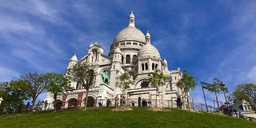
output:
<svg viewBox="0 0 256 128"><path fill-rule="evenodd" d="M148 73L148 83L151 83L151 86L155 87L158 91L159 86L165 85L165 79L166 77L163 75L163 72L159 69L155 70L155 72L149 72Z"/></svg>

